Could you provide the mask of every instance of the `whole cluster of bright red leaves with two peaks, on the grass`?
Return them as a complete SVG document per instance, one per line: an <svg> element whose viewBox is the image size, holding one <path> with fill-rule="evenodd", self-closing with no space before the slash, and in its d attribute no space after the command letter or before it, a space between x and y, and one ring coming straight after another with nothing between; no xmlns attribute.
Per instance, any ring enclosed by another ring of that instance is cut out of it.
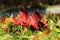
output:
<svg viewBox="0 0 60 40"><path fill-rule="evenodd" d="M15 25L31 25L33 28L38 29L38 23L41 22L42 16L39 13L39 10L36 10L32 15L30 15L26 9L22 9L19 11L19 17L16 19L14 16L12 16L13 23ZM46 26L46 22L43 22L43 24Z"/></svg>

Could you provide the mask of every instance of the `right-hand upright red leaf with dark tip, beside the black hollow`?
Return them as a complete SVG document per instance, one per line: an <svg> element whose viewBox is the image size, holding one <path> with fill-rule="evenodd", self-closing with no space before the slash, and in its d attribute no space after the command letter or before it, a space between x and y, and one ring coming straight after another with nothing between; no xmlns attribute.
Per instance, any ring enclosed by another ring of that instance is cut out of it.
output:
<svg viewBox="0 0 60 40"><path fill-rule="evenodd" d="M39 13L38 10L35 11L35 13L32 14L31 18L31 25L35 28L38 29L38 22L41 21L41 14Z"/></svg>

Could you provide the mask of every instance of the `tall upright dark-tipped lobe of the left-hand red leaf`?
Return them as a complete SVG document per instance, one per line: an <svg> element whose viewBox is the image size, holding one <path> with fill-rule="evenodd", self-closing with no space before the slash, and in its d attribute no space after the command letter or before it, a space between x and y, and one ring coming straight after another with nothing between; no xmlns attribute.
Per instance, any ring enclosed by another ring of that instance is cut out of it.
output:
<svg viewBox="0 0 60 40"><path fill-rule="evenodd" d="M20 18L19 19L21 19L22 22L23 22L22 25L27 25L29 23L29 22L27 23L27 20L29 19L30 14L24 8L19 13L20 13Z"/></svg>

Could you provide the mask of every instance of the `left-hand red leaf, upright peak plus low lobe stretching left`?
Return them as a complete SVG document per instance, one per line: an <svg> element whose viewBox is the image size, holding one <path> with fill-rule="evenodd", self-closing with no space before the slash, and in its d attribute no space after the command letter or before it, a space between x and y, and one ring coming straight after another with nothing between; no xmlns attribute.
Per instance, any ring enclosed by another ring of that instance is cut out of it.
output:
<svg viewBox="0 0 60 40"><path fill-rule="evenodd" d="M30 14L24 9L24 7L22 7L21 11L19 11L19 15L20 16L17 19L12 17L13 23L16 25L21 24L23 26L28 25L29 22L27 22L27 20L29 19Z"/></svg>

